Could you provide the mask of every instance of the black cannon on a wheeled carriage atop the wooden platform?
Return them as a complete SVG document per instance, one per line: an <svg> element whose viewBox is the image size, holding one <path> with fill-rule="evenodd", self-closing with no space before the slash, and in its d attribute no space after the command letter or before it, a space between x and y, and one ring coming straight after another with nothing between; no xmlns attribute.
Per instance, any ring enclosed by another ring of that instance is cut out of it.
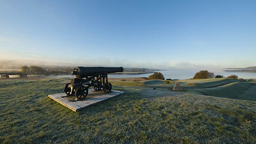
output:
<svg viewBox="0 0 256 144"><path fill-rule="evenodd" d="M63 92L66 96L75 95L75 100L83 100L88 95L88 89L110 92L112 84L108 82L108 74L123 72L124 68L117 67L81 67L74 68L71 72L76 78L71 78L70 83L66 84Z"/></svg>

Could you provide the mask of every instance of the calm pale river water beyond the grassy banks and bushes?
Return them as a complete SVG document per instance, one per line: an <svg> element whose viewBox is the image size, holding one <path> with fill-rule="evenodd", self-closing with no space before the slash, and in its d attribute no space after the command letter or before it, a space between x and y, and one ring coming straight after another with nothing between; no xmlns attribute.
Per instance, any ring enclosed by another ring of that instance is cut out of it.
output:
<svg viewBox="0 0 256 144"><path fill-rule="evenodd" d="M185 80L193 78L196 72L189 72L189 71L173 71L173 70L166 70L166 71L159 71L164 75L164 78L171 78L171 79L179 79ZM256 73L249 73L249 72L219 72L214 73L215 75L222 75L224 77L228 77L230 75L237 75L238 78L256 78ZM108 74L108 78L133 78L133 77L148 77L152 74ZM46 78L60 78L60 77L69 77L74 78L74 75L58 75L58 76L45 76Z"/></svg>

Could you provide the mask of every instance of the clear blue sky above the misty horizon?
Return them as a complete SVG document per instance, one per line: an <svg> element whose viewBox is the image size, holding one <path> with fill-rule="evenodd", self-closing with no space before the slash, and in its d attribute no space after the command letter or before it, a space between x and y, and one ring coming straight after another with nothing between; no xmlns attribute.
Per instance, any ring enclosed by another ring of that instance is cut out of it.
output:
<svg viewBox="0 0 256 144"><path fill-rule="evenodd" d="M247 67L255 0L0 0L0 59Z"/></svg>

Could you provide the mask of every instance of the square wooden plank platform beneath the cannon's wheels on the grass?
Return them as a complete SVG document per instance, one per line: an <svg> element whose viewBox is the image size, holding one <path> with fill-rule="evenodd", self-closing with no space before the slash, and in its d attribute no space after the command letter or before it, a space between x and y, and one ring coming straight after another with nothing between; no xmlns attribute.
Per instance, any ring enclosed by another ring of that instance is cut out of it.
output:
<svg viewBox="0 0 256 144"><path fill-rule="evenodd" d="M110 93L105 93L103 91L95 91L93 89L89 89L88 95L84 100L75 101L75 96L66 96L65 93L50 94L48 97L73 110L74 112L77 112L87 106L103 102L104 100L114 96L119 96L122 93L124 92L118 90L111 90Z"/></svg>

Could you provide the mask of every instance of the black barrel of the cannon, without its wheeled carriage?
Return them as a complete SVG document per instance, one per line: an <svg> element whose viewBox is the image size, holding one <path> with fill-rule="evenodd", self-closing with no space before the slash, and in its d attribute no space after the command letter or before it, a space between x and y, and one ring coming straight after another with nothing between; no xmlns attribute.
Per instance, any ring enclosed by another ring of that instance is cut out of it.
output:
<svg viewBox="0 0 256 144"><path fill-rule="evenodd" d="M114 73L114 72L123 72L123 67L82 67L78 66L76 67L71 74L75 75L76 78L85 78L87 76L93 76L94 74L98 73Z"/></svg>

